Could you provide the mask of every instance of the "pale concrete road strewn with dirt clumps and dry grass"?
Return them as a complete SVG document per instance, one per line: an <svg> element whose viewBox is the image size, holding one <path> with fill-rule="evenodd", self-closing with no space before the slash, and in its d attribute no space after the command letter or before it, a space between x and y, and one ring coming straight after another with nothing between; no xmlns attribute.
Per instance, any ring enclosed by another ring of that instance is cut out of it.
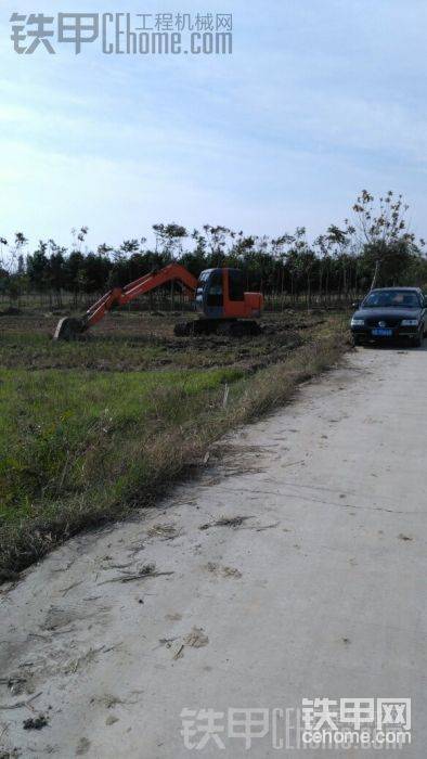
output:
<svg viewBox="0 0 427 759"><path fill-rule="evenodd" d="M358 350L159 509L70 541L3 592L3 750L298 756L303 698L411 698L401 755L424 759L426 383L425 349ZM218 712L210 730L202 709ZM40 713L48 725L24 730Z"/></svg>

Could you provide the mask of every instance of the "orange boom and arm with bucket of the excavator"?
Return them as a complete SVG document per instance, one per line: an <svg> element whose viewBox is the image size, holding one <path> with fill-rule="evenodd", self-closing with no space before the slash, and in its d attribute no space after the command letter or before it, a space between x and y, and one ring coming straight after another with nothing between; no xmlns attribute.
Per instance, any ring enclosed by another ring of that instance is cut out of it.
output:
<svg viewBox="0 0 427 759"><path fill-rule="evenodd" d="M181 282L190 294L194 294L197 286L196 278L180 263L169 263L163 269L140 276L125 287L113 287L93 304L81 319L70 317L61 319L53 339L73 339L101 321L106 312L113 308L126 306L130 300L144 295L144 293L150 293L150 291L160 287L172 280Z"/></svg>

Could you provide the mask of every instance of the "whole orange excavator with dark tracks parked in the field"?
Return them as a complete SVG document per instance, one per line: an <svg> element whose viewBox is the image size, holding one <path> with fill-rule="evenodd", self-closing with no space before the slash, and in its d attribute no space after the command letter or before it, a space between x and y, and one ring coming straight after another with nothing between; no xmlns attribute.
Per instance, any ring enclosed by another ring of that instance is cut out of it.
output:
<svg viewBox="0 0 427 759"><path fill-rule="evenodd" d="M242 271L228 268L206 269L196 280L185 267L169 263L163 269L140 276L126 287L114 287L80 319L61 319L54 339L75 339L101 321L107 311L126 306L140 295L172 281L180 283L190 295L199 314L199 319L176 324L176 335L182 337L193 334L222 334L241 337L259 334L260 326L256 319L261 316L263 296L261 293L245 293Z"/></svg>

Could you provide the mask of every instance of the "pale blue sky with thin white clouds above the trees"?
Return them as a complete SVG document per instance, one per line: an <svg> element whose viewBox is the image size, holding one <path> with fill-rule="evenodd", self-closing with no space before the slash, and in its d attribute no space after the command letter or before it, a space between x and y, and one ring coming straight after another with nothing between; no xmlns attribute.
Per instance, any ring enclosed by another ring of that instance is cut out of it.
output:
<svg viewBox="0 0 427 759"><path fill-rule="evenodd" d="M221 56L17 55L13 11L232 12ZM362 188L403 192L426 234L425 0L2 3L0 235L89 242L151 226L257 234L348 216Z"/></svg>

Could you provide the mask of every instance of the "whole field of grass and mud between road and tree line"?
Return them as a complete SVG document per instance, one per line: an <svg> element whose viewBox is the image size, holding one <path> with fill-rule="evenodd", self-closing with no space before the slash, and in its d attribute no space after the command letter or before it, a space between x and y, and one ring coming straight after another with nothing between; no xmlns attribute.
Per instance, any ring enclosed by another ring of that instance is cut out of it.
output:
<svg viewBox="0 0 427 759"><path fill-rule="evenodd" d="M258 337L177 338L173 316L109 314L53 343L57 317L0 321L0 571L153 503L214 440L342 351L342 317L264 319ZM223 403L228 385L228 402Z"/></svg>

